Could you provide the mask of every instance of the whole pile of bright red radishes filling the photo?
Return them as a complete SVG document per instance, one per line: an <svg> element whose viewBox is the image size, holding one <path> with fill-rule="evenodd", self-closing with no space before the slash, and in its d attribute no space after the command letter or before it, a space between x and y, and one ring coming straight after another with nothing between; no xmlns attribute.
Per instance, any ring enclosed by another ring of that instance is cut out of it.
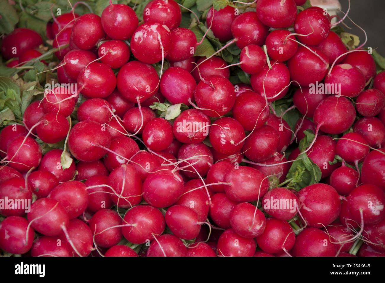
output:
<svg viewBox="0 0 385 283"><path fill-rule="evenodd" d="M385 72L362 46L348 51L332 18L297 6L304 2L209 8L207 27L224 48L241 50L233 66L219 52L194 57L202 42L179 27L173 0L149 2L140 23L131 7L112 2L101 17L55 18L47 29L54 47L68 44L56 54L57 79L78 90L46 90L24 125L0 133L0 198L32 202L29 212L0 209L0 248L31 256L385 256ZM2 54L18 57L8 67L39 57L40 44L32 30L7 35ZM166 61L159 74L151 65ZM251 85L230 82L235 65ZM340 84L340 95L311 93L321 81ZM271 104L293 88L290 108L303 117L290 129ZM87 100L78 107L79 95ZM189 109L173 121L159 117L150 106L166 99ZM43 155L37 139L66 147ZM321 183L285 187L305 154ZM294 206L264 206L273 200Z"/></svg>

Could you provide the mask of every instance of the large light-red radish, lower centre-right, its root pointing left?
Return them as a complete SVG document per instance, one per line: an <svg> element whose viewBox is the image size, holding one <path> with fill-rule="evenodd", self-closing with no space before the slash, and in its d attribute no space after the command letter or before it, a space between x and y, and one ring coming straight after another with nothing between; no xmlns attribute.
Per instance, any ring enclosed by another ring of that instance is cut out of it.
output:
<svg viewBox="0 0 385 283"><path fill-rule="evenodd" d="M224 177L226 196L236 202L251 202L261 199L269 187L269 180L257 169L239 166Z"/></svg>

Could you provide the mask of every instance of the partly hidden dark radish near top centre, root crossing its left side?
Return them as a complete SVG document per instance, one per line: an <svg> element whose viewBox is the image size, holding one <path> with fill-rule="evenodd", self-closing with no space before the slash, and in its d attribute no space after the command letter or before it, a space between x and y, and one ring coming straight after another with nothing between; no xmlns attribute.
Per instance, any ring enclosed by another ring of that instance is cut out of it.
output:
<svg viewBox="0 0 385 283"><path fill-rule="evenodd" d="M219 41L226 42L233 38L231 23L237 17L236 10L233 7L226 6L218 11L210 7L206 17L206 26L211 27L214 36Z"/></svg>

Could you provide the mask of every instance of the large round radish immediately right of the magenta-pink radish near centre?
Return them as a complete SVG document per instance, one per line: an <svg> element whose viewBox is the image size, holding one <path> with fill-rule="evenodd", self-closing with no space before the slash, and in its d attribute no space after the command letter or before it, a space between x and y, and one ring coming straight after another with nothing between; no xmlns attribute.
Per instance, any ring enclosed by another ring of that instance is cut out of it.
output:
<svg viewBox="0 0 385 283"><path fill-rule="evenodd" d="M209 76L204 80L199 82L194 91L198 107L210 109L203 110L203 113L210 117L228 113L235 102L235 92L231 82L219 75Z"/></svg>

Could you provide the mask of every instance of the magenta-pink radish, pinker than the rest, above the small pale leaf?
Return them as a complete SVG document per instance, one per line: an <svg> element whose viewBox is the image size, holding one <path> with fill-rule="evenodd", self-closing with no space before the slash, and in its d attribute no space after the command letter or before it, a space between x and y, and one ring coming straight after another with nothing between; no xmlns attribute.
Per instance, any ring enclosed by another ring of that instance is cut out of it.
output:
<svg viewBox="0 0 385 283"><path fill-rule="evenodd" d="M194 96L196 83L194 77L179 67L170 67L161 78L162 95L172 104L184 103L190 105L189 99Z"/></svg>

